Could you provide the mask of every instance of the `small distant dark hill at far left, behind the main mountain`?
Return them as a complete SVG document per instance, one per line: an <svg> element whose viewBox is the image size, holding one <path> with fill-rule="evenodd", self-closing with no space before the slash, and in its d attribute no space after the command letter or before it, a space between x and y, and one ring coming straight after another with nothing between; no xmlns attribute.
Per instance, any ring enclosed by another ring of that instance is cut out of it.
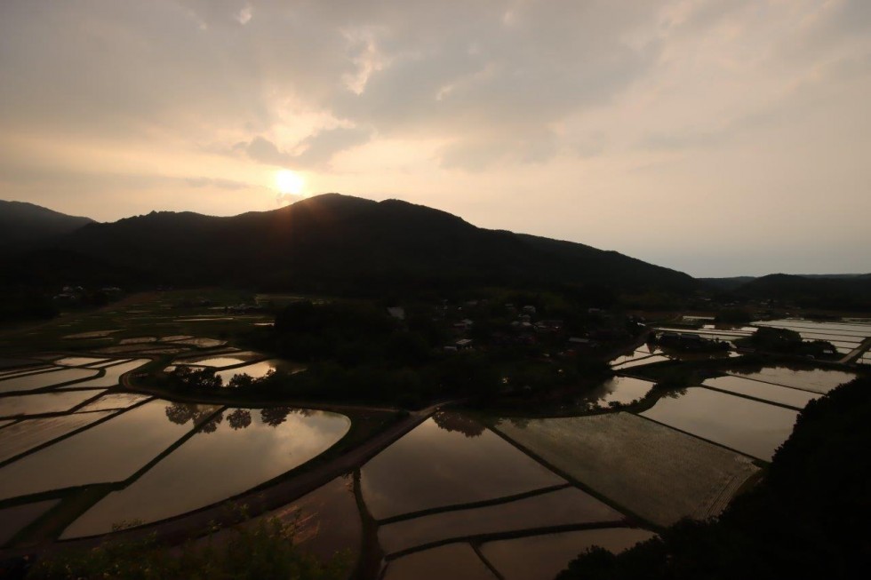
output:
<svg viewBox="0 0 871 580"><path fill-rule="evenodd" d="M92 222L33 203L0 200L0 250L45 242Z"/></svg>

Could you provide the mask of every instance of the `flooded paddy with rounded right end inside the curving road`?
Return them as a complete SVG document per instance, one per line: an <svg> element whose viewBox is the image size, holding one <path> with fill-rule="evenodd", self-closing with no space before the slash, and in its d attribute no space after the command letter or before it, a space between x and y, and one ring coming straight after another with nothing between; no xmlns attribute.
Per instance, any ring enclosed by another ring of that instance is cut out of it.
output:
<svg viewBox="0 0 871 580"><path fill-rule="evenodd" d="M164 520L236 496L317 457L350 427L348 417L336 413L285 411L225 409L209 417L179 448L85 512L61 539L107 533L119 519Z"/></svg>

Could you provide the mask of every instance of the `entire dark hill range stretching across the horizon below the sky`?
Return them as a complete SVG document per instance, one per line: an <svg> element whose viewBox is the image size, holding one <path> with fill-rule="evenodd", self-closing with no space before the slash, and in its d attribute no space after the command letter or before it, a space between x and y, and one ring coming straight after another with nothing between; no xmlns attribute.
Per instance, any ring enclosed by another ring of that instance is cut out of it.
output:
<svg viewBox="0 0 871 580"><path fill-rule="evenodd" d="M0 269L12 284L234 285L390 296L469 286L723 293L871 309L871 274L693 279L616 251L472 226L396 200L318 195L230 218L153 211L101 224L0 202Z"/></svg>

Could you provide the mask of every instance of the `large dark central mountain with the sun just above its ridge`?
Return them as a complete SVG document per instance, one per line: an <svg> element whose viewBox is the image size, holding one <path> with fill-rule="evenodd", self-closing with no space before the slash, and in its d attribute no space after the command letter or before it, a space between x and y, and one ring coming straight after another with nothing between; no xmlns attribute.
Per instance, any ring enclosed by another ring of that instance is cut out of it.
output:
<svg viewBox="0 0 871 580"><path fill-rule="evenodd" d="M91 268L99 263L125 276L136 271L154 284L360 294L466 284L595 283L680 293L697 287L687 274L617 252L482 229L412 203L338 194L232 218L152 212L92 223L64 236L57 247L71 252L68 263L75 254ZM24 279L33 274L18 273Z"/></svg>

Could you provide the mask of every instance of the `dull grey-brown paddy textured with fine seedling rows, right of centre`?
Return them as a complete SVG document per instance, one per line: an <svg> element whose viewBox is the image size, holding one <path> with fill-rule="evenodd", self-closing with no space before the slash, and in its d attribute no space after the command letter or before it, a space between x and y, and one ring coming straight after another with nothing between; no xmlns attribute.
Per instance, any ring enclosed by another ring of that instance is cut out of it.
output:
<svg viewBox="0 0 871 580"><path fill-rule="evenodd" d="M722 512L758 470L747 457L626 412L502 420L496 429L598 495L662 526Z"/></svg>

